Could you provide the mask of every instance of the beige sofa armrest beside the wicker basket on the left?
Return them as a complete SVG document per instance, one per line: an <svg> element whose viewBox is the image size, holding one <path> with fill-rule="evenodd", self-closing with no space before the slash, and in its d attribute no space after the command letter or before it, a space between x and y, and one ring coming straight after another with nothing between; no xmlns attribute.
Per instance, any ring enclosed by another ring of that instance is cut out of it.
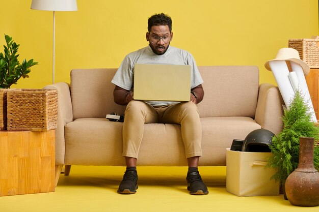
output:
<svg viewBox="0 0 319 212"><path fill-rule="evenodd" d="M44 89L58 90L58 128L56 129L56 165L65 162L65 137L64 127L73 120L71 94L69 84L59 82L43 87Z"/></svg>

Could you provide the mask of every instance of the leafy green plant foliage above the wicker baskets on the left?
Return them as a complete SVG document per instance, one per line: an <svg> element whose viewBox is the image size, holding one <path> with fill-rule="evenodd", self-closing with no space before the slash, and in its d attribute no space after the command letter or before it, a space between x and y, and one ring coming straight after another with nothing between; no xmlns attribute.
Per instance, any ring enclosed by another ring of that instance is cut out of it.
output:
<svg viewBox="0 0 319 212"><path fill-rule="evenodd" d="M0 88L10 88L21 77L28 78L30 67L38 64L33 62L33 59L29 61L23 59L20 64L19 54L17 54L20 45L16 44L8 35L5 35L5 40L7 45L4 45L4 53L0 53Z"/></svg>

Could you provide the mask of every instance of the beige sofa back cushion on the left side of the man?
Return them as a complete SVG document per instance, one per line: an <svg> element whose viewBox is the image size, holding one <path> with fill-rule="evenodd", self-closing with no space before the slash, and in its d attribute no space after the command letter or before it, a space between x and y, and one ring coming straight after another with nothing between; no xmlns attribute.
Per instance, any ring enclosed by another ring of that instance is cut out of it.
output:
<svg viewBox="0 0 319 212"><path fill-rule="evenodd" d="M125 106L113 98L111 80L117 69L73 69L71 71L71 98L73 118L105 117L116 112L123 114Z"/></svg>

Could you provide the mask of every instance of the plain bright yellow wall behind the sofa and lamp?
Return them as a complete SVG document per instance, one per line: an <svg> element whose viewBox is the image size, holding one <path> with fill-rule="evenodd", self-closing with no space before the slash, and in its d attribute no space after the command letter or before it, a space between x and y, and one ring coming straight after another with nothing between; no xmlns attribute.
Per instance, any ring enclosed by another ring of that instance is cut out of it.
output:
<svg viewBox="0 0 319 212"><path fill-rule="evenodd" d="M39 62L13 87L50 84L52 12L31 10L31 0L0 1L0 44L10 35L20 44L20 60ZM318 0L77 0L77 7L56 12L56 82L69 82L75 68L118 67L147 45L147 18L154 13L172 17L171 45L190 51L199 66L256 65L261 83L276 83L263 64L288 39L319 34Z"/></svg>

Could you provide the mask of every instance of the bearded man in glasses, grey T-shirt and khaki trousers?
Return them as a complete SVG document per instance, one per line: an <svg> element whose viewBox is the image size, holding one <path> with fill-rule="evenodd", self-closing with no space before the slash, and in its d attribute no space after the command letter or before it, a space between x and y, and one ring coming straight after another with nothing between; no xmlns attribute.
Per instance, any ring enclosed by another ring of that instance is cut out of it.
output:
<svg viewBox="0 0 319 212"><path fill-rule="evenodd" d="M148 19L148 32L146 33L149 45L126 55L112 80L112 83L115 84L115 103L127 105L123 124L123 156L127 167L117 191L120 194L134 194L138 188L136 164L145 123L180 124L189 165L188 190L190 194L194 195L208 194L207 187L198 172L199 157L202 154L202 132L196 104L202 101L204 96L201 85L203 80L193 56L185 50L170 46L172 38L171 18L163 13L151 16ZM191 101L176 103L134 100L132 87L134 66L150 63L191 65Z"/></svg>

